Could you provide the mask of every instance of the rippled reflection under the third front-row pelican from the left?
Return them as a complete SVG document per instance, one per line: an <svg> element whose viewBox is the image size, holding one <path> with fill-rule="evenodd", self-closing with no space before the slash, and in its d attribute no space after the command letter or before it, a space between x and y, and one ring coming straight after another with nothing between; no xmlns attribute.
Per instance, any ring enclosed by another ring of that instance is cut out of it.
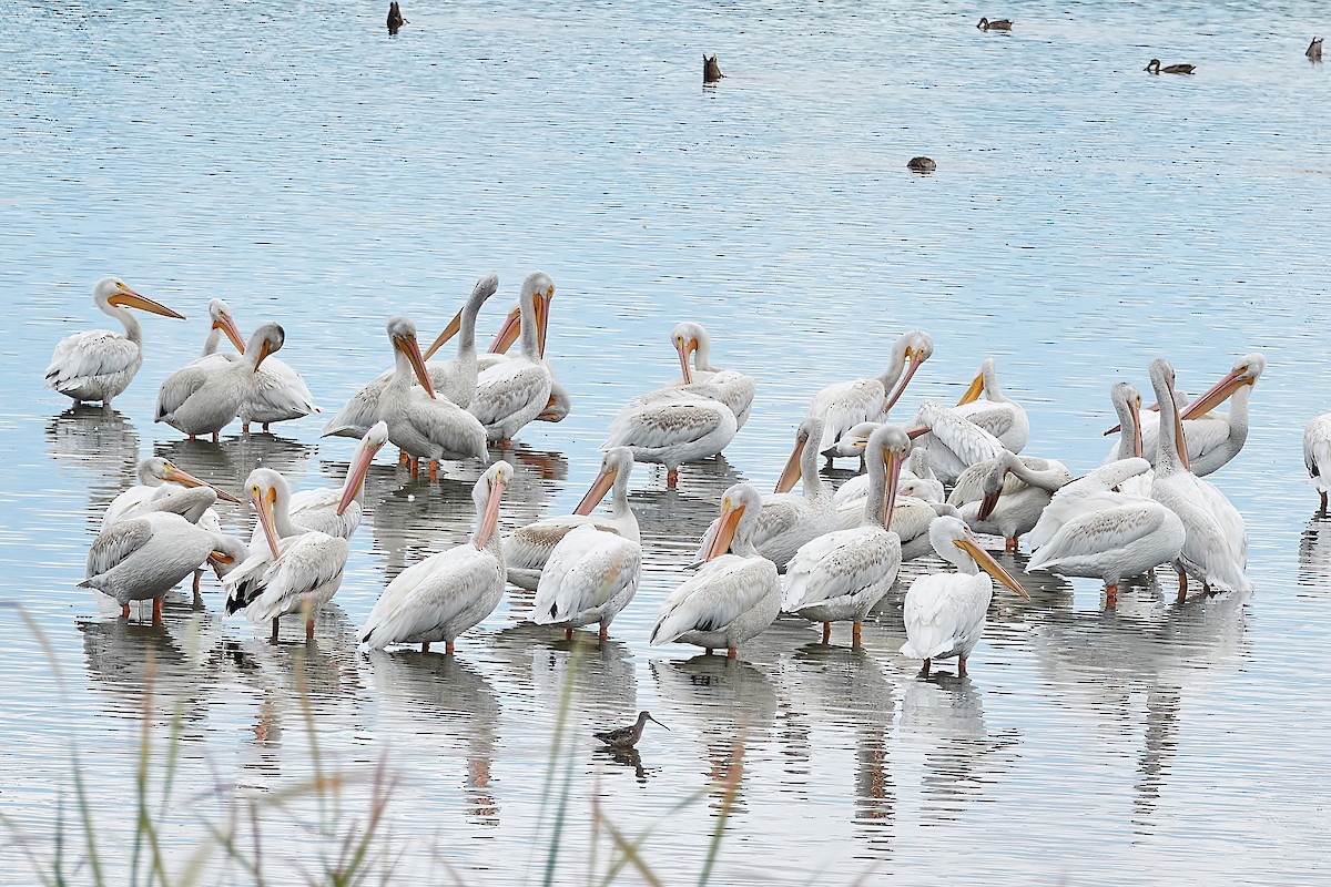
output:
<svg viewBox="0 0 1331 887"><path fill-rule="evenodd" d="M462 758L466 761L462 793L471 822L498 827L499 802L491 790L490 771L499 743L500 706L490 681L453 656L373 650L369 661L385 731L410 733L411 754L427 738L443 746L431 747L422 762L430 778L407 779L403 785L430 786L433 795L439 785L441 761Z"/></svg>

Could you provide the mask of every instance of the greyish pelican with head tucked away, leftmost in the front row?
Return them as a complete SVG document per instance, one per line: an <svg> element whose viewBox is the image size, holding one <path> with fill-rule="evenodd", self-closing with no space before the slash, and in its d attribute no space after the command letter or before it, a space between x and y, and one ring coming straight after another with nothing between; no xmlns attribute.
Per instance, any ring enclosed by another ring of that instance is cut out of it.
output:
<svg viewBox="0 0 1331 887"><path fill-rule="evenodd" d="M101 528L88 551L88 569L79 586L114 597L124 617L129 616L129 601L152 598L156 622L161 620L162 594L205 561L230 559L233 551L217 533L178 513L145 511Z"/></svg>

